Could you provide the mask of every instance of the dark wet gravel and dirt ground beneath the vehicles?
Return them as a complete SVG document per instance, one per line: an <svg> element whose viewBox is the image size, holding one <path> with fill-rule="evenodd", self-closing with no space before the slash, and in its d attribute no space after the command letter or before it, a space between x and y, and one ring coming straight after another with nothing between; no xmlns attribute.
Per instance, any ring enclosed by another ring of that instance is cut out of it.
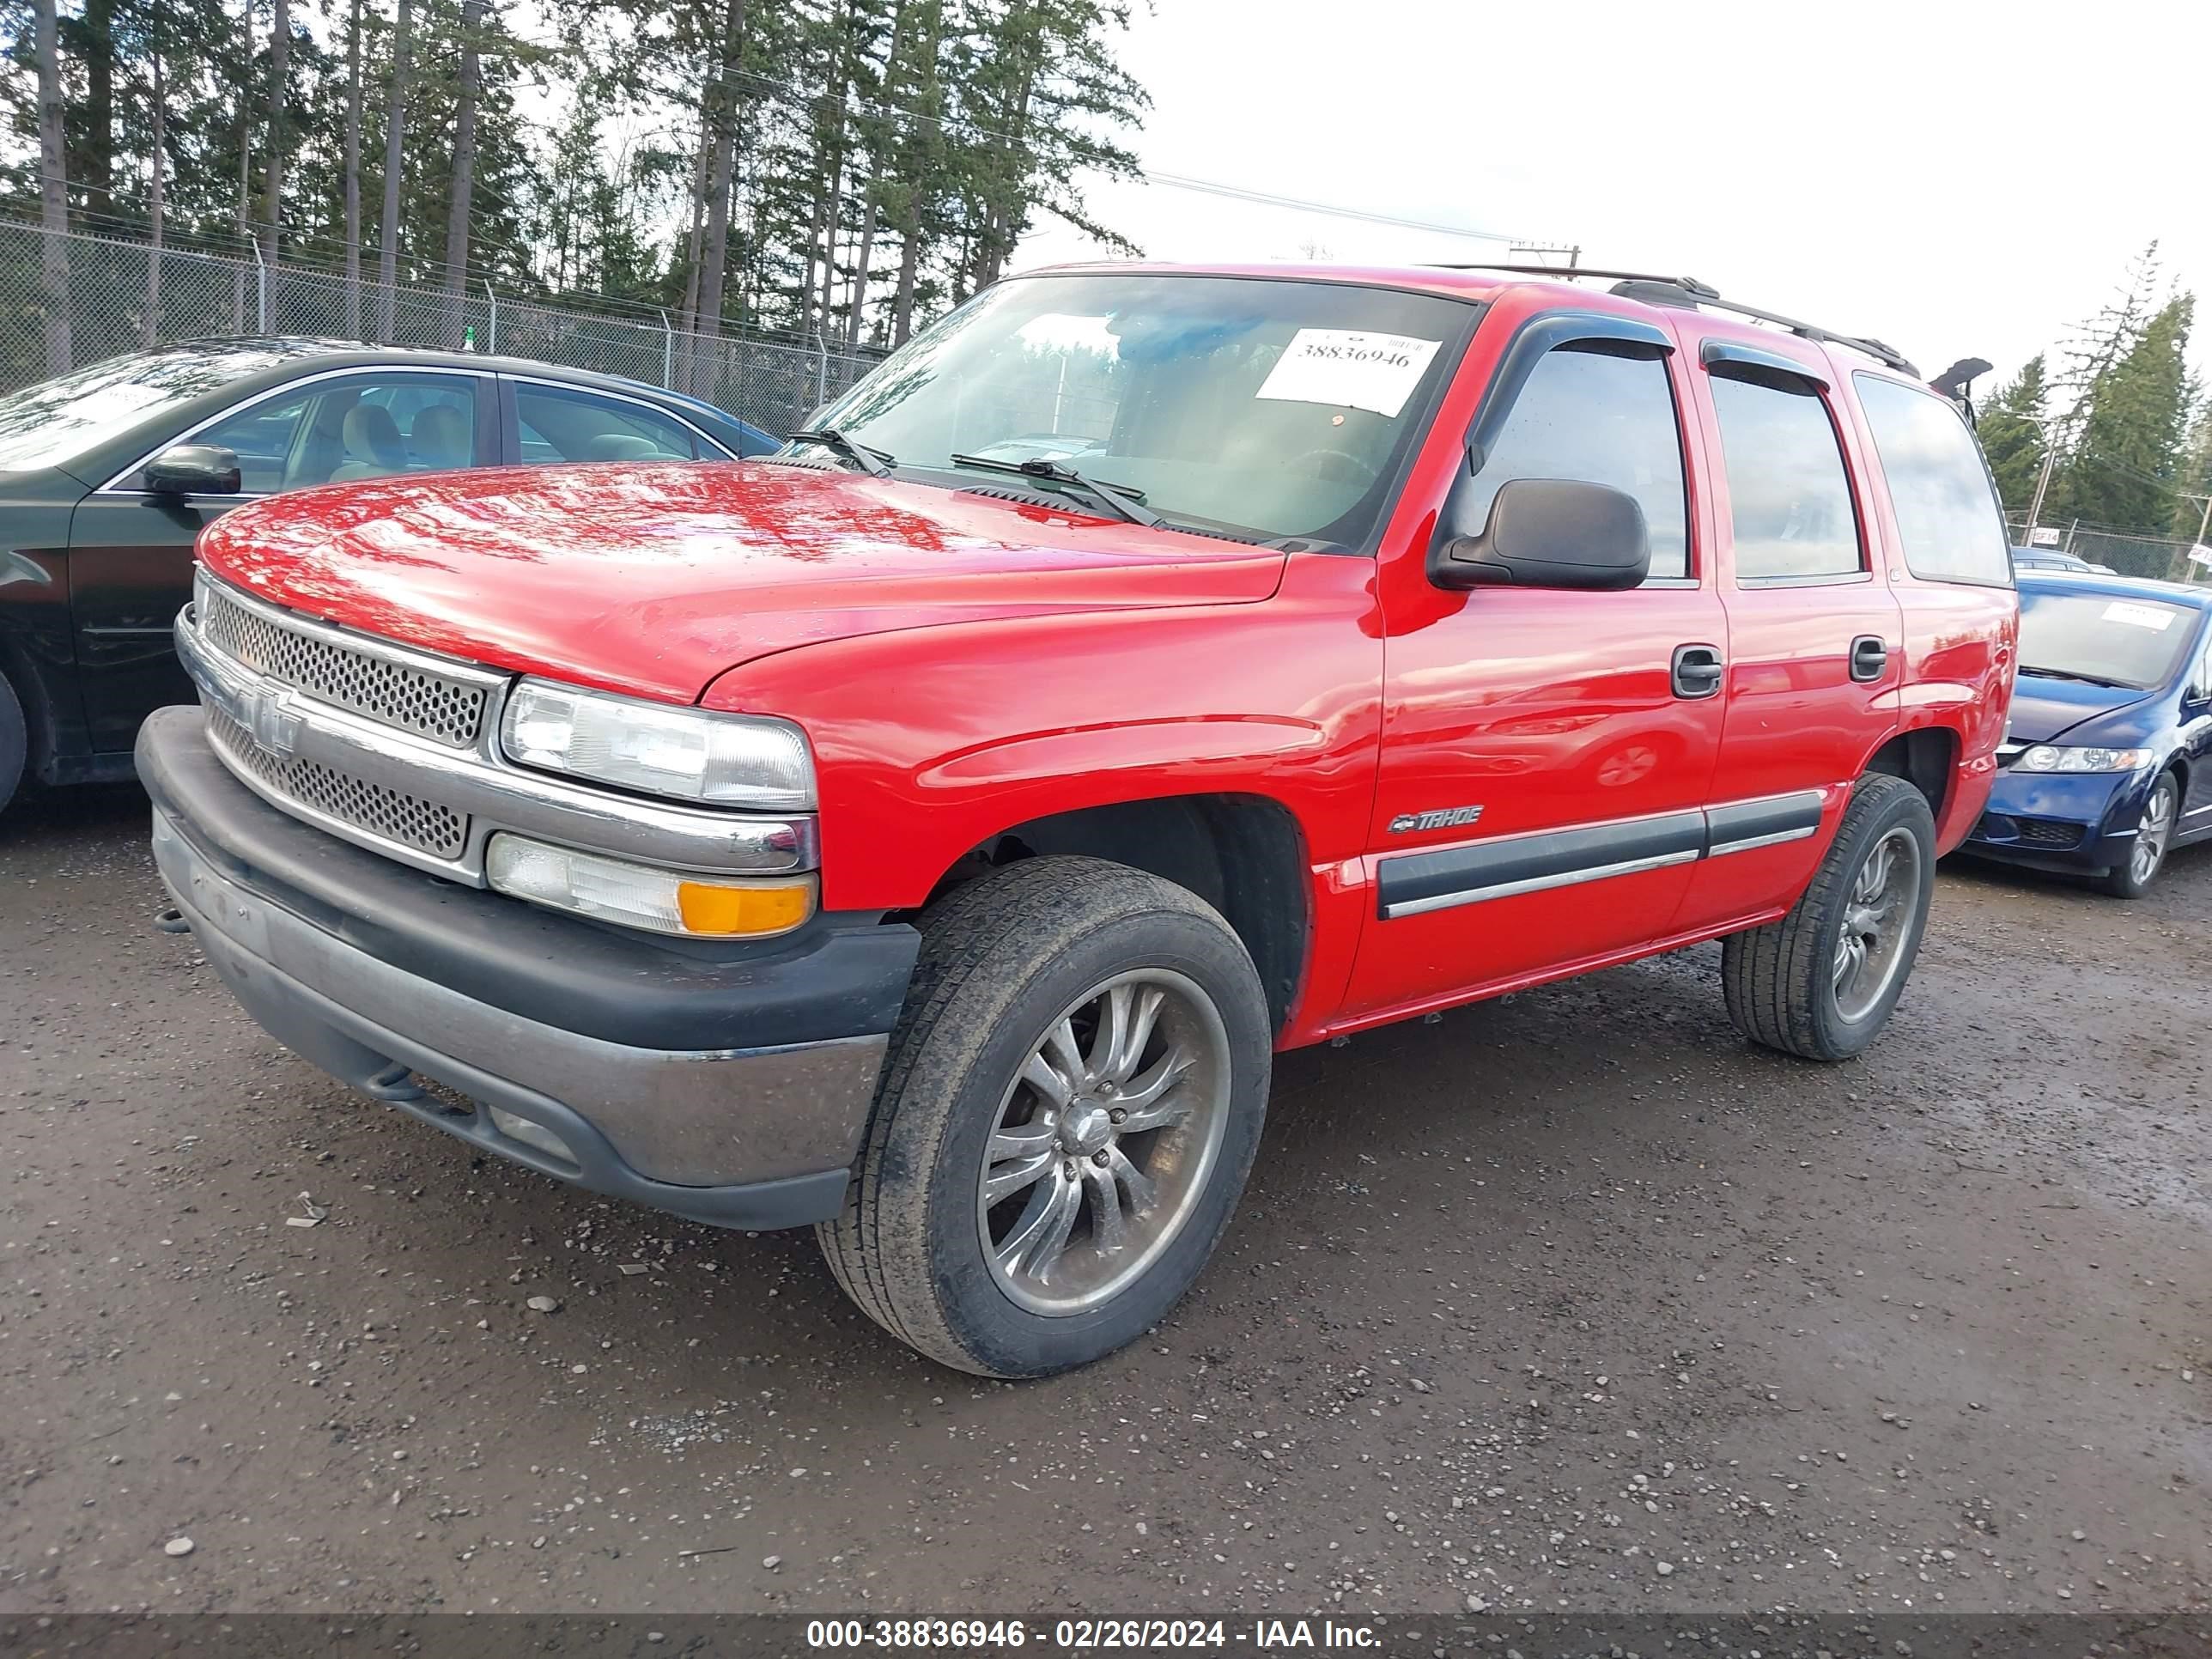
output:
<svg viewBox="0 0 2212 1659"><path fill-rule="evenodd" d="M1002 1387L805 1234L345 1093L150 929L144 841L128 790L0 827L4 1610L2212 1586L2212 854L2139 905L1947 869L1860 1064L1745 1048L1714 949L1290 1055L1197 1294Z"/></svg>

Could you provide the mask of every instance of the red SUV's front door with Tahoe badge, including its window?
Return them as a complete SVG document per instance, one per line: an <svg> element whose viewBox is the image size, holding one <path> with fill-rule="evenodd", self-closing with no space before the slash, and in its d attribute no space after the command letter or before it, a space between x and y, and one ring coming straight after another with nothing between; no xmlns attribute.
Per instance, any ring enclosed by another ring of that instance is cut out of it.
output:
<svg viewBox="0 0 2212 1659"><path fill-rule="evenodd" d="M1540 314L1500 358L1473 434L1489 495L1513 478L1624 489L1652 575L1626 593L1385 582L1378 914L1352 1018L1668 936L1721 741L1719 675L1677 681L1677 664L1719 664L1728 646L1683 465L1683 376L1672 334L1621 316Z"/></svg>

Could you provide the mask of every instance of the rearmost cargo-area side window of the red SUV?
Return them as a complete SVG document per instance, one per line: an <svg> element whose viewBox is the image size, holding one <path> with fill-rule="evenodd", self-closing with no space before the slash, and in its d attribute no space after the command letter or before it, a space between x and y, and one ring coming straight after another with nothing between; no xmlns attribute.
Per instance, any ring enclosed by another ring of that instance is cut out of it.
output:
<svg viewBox="0 0 2212 1659"><path fill-rule="evenodd" d="M2011 586L1997 491L1958 409L1933 392L1856 374L1907 568L1931 582ZM2059 566L2064 568L2064 566Z"/></svg>

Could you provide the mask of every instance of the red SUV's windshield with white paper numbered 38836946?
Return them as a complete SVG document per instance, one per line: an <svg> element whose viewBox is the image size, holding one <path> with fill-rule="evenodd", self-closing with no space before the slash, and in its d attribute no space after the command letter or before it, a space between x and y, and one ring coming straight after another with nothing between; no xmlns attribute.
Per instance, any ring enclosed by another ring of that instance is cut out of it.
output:
<svg viewBox="0 0 2212 1659"><path fill-rule="evenodd" d="M1358 546L1473 321L1464 301L1349 283L1026 276L916 336L814 425L900 473L1095 511L1066 478L1004 471L1057 462L1168 524Z"/></svg>

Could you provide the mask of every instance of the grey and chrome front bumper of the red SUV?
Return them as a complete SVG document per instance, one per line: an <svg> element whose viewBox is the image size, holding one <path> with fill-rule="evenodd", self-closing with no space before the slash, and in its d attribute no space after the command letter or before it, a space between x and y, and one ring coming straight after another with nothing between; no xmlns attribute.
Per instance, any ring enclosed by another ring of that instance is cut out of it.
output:
<svg viewBox="0 0 2212 1659"><path fill-rule="evenodd" d="M838 1212L914 929L823 916L770 947L699 947L458 887L261 801L197 708L146 721L137 770L177 909L301 1057L487 1152L695 1221Z"/></svg>

